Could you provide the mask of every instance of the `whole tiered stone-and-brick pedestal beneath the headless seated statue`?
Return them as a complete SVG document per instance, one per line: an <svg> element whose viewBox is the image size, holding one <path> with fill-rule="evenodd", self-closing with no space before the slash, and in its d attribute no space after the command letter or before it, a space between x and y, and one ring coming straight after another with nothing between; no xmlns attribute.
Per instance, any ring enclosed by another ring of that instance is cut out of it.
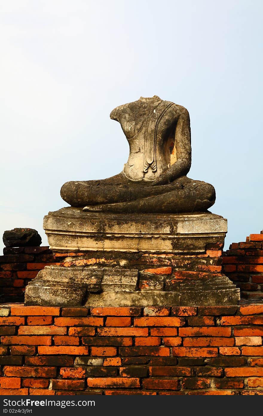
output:
<svg viewBox="0 0 263 416"><path fill-rule="evenodd" d="M25 305L236 305L221 273L227 221L209 212L113 214L62 208L44 218L59 266L29 283Z"/></svg>

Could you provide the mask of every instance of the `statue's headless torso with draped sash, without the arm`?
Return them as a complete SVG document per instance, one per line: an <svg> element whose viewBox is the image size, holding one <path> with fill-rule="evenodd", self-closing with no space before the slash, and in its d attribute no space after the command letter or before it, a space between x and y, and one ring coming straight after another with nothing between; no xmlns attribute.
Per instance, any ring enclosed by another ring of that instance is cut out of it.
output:
<svg viewBox="0 0 263 416"><path fill-rule="evenodd" d="M129 142L123 173L130 181L155 181L175 163L175 120L169 114L173 105L157 96L140 97L111 112Z"/></svg>

